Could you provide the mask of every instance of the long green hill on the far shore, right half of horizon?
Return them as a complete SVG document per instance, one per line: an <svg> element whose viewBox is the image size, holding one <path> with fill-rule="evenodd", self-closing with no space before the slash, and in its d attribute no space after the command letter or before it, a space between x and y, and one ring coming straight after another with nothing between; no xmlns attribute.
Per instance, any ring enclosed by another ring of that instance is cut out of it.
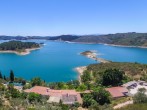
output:
<svg viewBox="0 0 147 110"><path fill-rule="evenodd" d="M117 33L98 36L82 36L73 42L106 43L124 46L147 46L147 33Z"/></svg>

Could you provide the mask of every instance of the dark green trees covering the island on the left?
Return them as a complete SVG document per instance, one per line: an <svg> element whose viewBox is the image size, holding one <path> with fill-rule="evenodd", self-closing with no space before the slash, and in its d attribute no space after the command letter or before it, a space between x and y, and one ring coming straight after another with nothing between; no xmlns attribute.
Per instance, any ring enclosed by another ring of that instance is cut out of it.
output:
<svg viewBox="0 0 147 110"><path fill-rule="evenodd" d="M25 52L25 49L39 48L40 45L35 42L9 41L0 44L0 51Z"/></svg>

